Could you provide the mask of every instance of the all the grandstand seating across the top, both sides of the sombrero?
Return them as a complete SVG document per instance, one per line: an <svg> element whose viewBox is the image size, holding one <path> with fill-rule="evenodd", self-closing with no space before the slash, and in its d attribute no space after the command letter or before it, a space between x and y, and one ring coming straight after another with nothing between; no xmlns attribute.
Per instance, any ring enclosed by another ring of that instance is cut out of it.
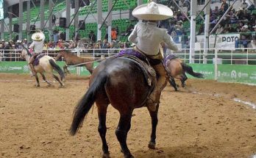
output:
<svg viewBox="0 0 256 158"><path fill-rule="evenodd" d="M54 8L53 11L50 12L49 10L49 2L52 1ZM70 0L71 1L71 0ZM79 12L78 12L78 16L79 16L79 20L83 20L85 18L85 16L88 15L88 18L86 18L85 21L85 28L84 30L79 30L79 35L80 37L88 37L88 33L90 32L90 30L93 30L94 32L97 32L97 23L96 23L96 12L97 12L97 3L95 6L90 7L91 4L94 3L94 1L96 0L91 0L89 1L89 5L82 5L83 7L79 7ZM114 2L115 0L113 0ZM6 1L6 4L9 4L9 6L7 8L12 8L13 6L15 6L16 3L18 3L19 1L13 1L10 4L10 1ZM29 15L29 20L27 19L27 4L30 2L30 15ZM57 17L57 23L59 22L59 19L61 17L66 16L66 0L45 0L43 1L43 7L44 7L44 19L45 19L45 23L46 23L46 27L43 28L45 34L46 34L46 40L51 39L50 34L51 32L49 32L49 23L47 23L47 21L49 21L49 19L51 17L49 17L50 15L56 15ZM80 1L79 1L80 2ZM85 2L85 1L84 1ZM142 0L141 3L144 4L146 3L147 0ZM162 0L162 1L157 1L160 2L162 4L168 4L168 1L166 0ZM232 1L228 1L228 4L231 4ZM73 3L73 4L72 4ZM183 1L183 3L185 3ZM71 1L72 6L74 5L74 1ZM198 4L202 4L202 1L198 1ZM26 32L29 30L28 28L26 28L26 21L29 21L30 24L35 24L37 29L42 29L40 28L40 1L35 1L35 0L23 0L23 12L22 12L22 39L24 38L28 38L29 39L29 34L27 34ZM131 24L135 24L136 21L129 21L129 10L134 9L136 6L138 5L138 0L117 0L116 4L113 6L113 21L112 21L112 26L118 26L118 29L120 32L125 32L127 29L127 26L131 25ZM241 1L237 1L234 4L234 8L238 9L239 6L241 5ZM187 14L189 16L190 14L190 10L189 10L189 6L186 6L184 4L182 4L182 2L179 1L179 6L182 8L182 10L186 10ZM218 6L219 8L221 7L221 1L211 1L210 7L212 8L212 10ZM15 7L18 7L17 5ZM74 6L73 6L74 7ZM75 11L74 8L71 8L71 19L74 18L75 15ZM174 10L177 9L177 6L175 6L175 4L171 4L171 7L174 8ZM202 5L198 5L198 9L197 11L201 10L202 7L204 7L204 4ZM17 9L17 8L16 8ZM10 9L7 9L10 11ZM15 8L14 8L15 10ZM108 1L107 0L102 0L102 12L103 12L103 18L106 17L107 12L108 12ZM255 10L252 10L252 12L255 12ZM5 29L4 29L4 39L5 40L9 40L9 39L13 39L17 34L10 32L10 30L8 31L8 29L13 29L13 25L14 24L19 24L19 17L17 14L13 15L13 12L11 12L12 14L12 22L10 23L10 19L8 17L6 17L4 19L5 22ZM202 17L204 16L204 12L201 12L201 17L197 17L196 18L196 32L199 32L199 28L202 24L204 24L204 21L202 20ZM11 25L11 26L10 26ZM186 34L189 36L190 33L190 22L185 20L184 24L183 24L184 30L186 30ZM54 29L59 29L61 31L64 31L65 28L60 28L59 26L57 26ZM75 27L74 27L74 21L73 23L69 26L70 29L70 34L69 34L69 38L72 39L74 36L74 32L75 32ZM106 26L102 27L102 38L104 38L104 36L107 34L106 32ZM121 41L126 41L127 37L121 37L120 39Z"/></svg>

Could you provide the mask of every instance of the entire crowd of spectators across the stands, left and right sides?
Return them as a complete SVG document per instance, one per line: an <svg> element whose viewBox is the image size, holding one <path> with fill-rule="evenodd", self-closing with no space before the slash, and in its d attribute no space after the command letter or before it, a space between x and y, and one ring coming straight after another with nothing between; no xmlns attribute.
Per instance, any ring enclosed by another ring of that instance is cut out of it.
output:
<svg viewBox="0 0 256 158"><path fill-rule="evenodd" d="M241 39L235 42L235 47L247 47L251 41L256 42L256 12L254 12L255 6L250 4L247 0L241 0L241 6L238 9L231 8L230 11L225 15L218 28L213 30L216 34L227 34L227 33L241 33ZM179 2L180 7L188 7L187 12L182 12L179 8L174 7L175 4L166 1L166 5L172 8L174 11L174 17L166 21L160 21L159 26L166 28L168 34L174 37L174 41L177 43L183 43L188 46L189 43L189 29L185 29L183 24L188 22L190 1L181 0ZM164 1L163 1L164 3ZM200 1L204 3L204 1ZM228 10L229 4L226 0L221 0L221 7L215 7L210 10L210 31L218 23L222 15ZM56 19L54 19L55 22ZM199 18L200 21L202 19ZM201 22L202 23L202 22ZM197 21L198 24L198 21ZM90 31L88 38L80 39L79 35L74 35L73 40L65 40L65 32L59 32L54 30L52 35L52 41L46 41L44 49L46 50L60 50L60 49L123 49L130 46L132 43L119 43L118 38L120 36L129 36L132 32L133 25L131 24L126 32L119 32L118 26L113 27L111 30L111 42L107 42L107 35L104 39L96 41L95 32ZM204 35L205 24L199 25L197 35ZM179 37L182 37L180 39ZM4 41L1 40L0 49L22 49L23 46L29 46L26 39L23 41L13 40Z"/></svg>

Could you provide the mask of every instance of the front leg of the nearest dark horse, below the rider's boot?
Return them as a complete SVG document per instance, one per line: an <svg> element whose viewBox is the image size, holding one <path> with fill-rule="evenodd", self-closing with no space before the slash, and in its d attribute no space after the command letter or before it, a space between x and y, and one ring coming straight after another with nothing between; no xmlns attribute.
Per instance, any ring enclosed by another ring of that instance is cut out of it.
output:
<svg viewBox="0 0 256 158"><path fill-rule="evenodd" d="M159 104L157 104L157 109L154 112L149 110L149 114L151 116L151 121L152 121L152 132L151 132L151 137L149 141L149 148L152 148L152 149L155 148L155 139L157 137L156 132L157 132L157 123L158 123L158 118L157 118L158 108L159 108Z"/></svg>

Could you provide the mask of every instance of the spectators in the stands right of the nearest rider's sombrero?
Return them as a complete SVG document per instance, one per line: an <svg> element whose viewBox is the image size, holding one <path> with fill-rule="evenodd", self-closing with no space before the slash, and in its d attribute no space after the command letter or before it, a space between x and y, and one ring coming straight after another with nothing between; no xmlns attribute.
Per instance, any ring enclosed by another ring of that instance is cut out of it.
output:
<svg viewBox="0 0 256 158"><path fill-rule="evenodd" d="M160 26L168 30L169 35L174 37L174 41L176 43L182 43L188 46L188 35L190 28L184 28L183 24L188 22L188 18L190 18L190 2L187 0L178 2L180 7L187 7L188 11L181 11L179 8L173 7L174 18L168 19L167 21L161 21ZM200 1L200 3L205 4L205 1ZM169 5L175 6L175 4ZM229 9L229 7L230 5L226 0L221 0L221 7L216 6L214 9L210 9L210 32L216 26L224 13ZM204 17L204 15L202 15L202 17ZM196 35L204 35L205 24L200 16L196 19L196 24L199 24ZM256 40L255 26L255 5L250 1L241 0L241 6L237 9L231 7L227 12L227 15L224 16L222 21L218 24L217 28L213 30L213 32L215 34L239 33L241 34L241 39L235 42L235 47L247 47L248 43L251 43L252 40ZM182 37L182 39L178 37Z"/></svg>

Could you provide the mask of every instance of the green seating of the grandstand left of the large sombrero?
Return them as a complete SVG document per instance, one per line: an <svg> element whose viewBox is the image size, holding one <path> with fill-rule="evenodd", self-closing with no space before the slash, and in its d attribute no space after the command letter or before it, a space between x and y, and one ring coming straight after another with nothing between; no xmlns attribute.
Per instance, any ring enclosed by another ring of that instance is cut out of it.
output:
<svg viewBox="0 0 256 158"><path fill-rule="evenodd" d="M30 15L29 15L29 22L30 24L35 24L37 29L42 29L40 28L40 1L33 1L33 0L29 0L30 1ZM23 31L22 31L22 39L27 38L29 39L29 34L27 34L27 30L26 29L26 21L28 21L27 19L27 3L29 3L29 1L24 0L23 2L23 7L24 7L24 12L22 12L22 18L23 18ZM50 12L49 11L49 1L53 2L54 8L53 11ZM93 4L95 0L90 1L90 4ZM17 1L18 2L18 1ZM72 3L74 3L74 1L71 1ZM113 1L114 2L114 1ZM7 2L8 3L8 2ZM146 0L143 0L143 3L146 3ZM73 4L72 4L73 5ZM107 0L103 0L102 1L102 12L103 12L103 17L107 15L108 12L108 1ZM118 29L120 32L125 32L127 27L130 24L135 24L135 21L129 21L129 10L132 10L133 8L135 8L138 5L138 1L137 0L131 0L131 1L126 1L126 0L118 0L115 4L115 6L113 6L113 21L112 21L112 26L118 26ZM14 5L13 5L14 6ZM8 8L12 8L13 6L9 6ZM65 10L66 10L66 1L65 0L47 0L44 1L44 19L45 19L45 23L46 23L46 27L43 28L43 31L46 34L46 40L51 39L50 37L50 32L49 32L49 19L51 17L49 17L50 15L55 15L57 17L57 23L59 23L59 19L61 17L65 17ZM17 6L15 6L17 7ZM10 9L8 9L10 10ZM90 32L90 30L93 30L94 32L97 32L97 23L96 20L93 19L96 17L96 12L97 12L97 4L94 7L90 7L90 5L85 5L83 7L79 7L79 12L78 12L78 16L79 16L79 21L83 20L85 18L85 16L88 16L88 18L86 18L85 21L85 28L84 30L79 30L79 35L80 37L88 37L88 33ZM12 15L12 22L10 23L10 18L5 18L5 24L6 27L4 29L4 40L9 40L9 39L13 39L15 38L16 35L18 35L18 33L12 33L10 32L10 30L8 31L8 29L12 28L13 29L13 25L14 24L19 24L19 18L18 14L13 13L13 12L9 12L10 15ZM71 8L71 19L74 18L75 12L74 12L74 8ZM48 23L47 23L48 22ZM12 26L10 26L10 24ZM68 24L67 24L68 25ZM9 28L7 27L9 26ZM65 31L65 28L60 27L60 26L56 26L54 27L54 29L58 29L60 31ZM74 21L73 23L69 26L70 29L70 34L69 34L69 38L72 39L74 36L74 32L75 32L75 27L74 27ZM106 35L106 26L102 27L102 38L104 38L104 36ZM120 39L121 41L126 41L127 37L121 37Z"/></svg>

